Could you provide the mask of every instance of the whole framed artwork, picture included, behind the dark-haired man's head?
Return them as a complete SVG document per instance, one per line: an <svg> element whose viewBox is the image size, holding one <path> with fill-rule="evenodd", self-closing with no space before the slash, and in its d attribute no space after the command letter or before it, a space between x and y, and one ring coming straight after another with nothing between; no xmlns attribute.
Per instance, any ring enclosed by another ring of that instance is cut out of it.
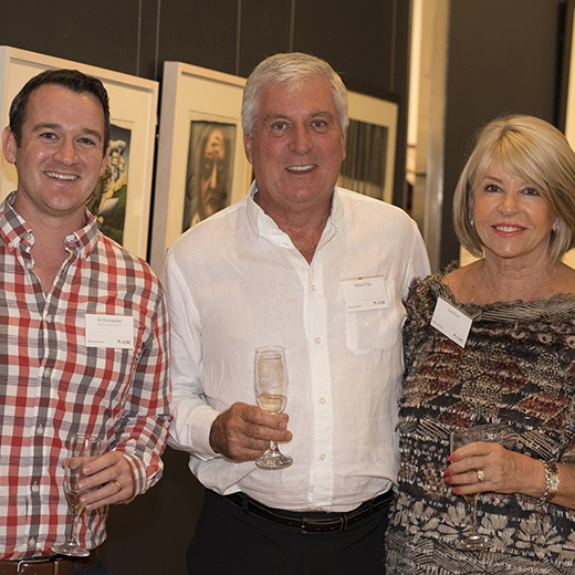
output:
<svg viewBox="0 0 575 575"><path fill-rule="evenodd" d="M159 84L10 46L0 46L0 108L2 129L20 88L49 69L75 69L98 77L109 96L112 153L106 172L88 199L101 230L135 255L146 259L149 234L151 176ZM17 187L14 166L2 156L0 199Z"/></svg>

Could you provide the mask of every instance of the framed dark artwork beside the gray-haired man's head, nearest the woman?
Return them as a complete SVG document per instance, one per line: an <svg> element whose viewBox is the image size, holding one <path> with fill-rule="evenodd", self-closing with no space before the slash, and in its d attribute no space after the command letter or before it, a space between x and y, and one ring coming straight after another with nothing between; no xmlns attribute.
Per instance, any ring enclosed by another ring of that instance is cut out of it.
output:
<svg viewBox="0 0 575 575"><path fill-rule="evenodd" d="M348 93L346 158L337 185L393 203L399 103Z"/></svg>

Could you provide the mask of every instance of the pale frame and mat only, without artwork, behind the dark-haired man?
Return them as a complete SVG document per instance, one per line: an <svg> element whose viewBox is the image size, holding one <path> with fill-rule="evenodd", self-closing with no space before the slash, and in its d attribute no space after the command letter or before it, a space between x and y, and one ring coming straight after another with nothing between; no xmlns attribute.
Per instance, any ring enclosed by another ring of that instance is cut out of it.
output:
<svg viewBox="0 0 575 575"><path fill-rule="evenodd" d="M21 87L34 75L49 69L74 69L102 81L109 96L114 132L128 130L129 157L126 166L127 194L123 245L142 259L147 258L151 180L157 126L159 83L102 67L0 46L0 109L2 129L9 124L10 104ZM0 200L17 187L17 172L2 155L0 163Z"/></svg>

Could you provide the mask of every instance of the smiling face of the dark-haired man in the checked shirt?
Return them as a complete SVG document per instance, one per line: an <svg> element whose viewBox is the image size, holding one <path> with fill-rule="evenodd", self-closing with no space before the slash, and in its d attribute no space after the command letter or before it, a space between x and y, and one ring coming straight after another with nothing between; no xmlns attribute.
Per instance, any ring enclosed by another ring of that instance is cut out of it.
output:
<svg viewBox="0 0 575 575"><path fill-rule="evenodd" d="M15 210L24 218L69 217L82 224L84 206L104 172L104 112L97 98L58 85L31 95L17 145L2 133L4 156L18 170Z"/></svg>

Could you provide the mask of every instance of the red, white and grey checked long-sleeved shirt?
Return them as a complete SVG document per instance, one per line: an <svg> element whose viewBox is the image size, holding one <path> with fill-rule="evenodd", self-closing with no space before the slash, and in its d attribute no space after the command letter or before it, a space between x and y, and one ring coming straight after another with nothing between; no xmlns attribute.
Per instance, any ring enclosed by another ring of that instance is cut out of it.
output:
<svg viewBox="0 0 575 575"><path fill-rule="evenodd" d="M33 230L0 205L0 558L51 554L72 522L62 460L75 433L132 464L136 494L161 474L169 426L169 321L148 265L97 231L66 238L49 294L33 273ZM86 313L132 315L133 349L86 347ZM80 544L105 536L107 509L84 513Z"/></svg>

